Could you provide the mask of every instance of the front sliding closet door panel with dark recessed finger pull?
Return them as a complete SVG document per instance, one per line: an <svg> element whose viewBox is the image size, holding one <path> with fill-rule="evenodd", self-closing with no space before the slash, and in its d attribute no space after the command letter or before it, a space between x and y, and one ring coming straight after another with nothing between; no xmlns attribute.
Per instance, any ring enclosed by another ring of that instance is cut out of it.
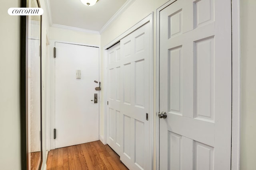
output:
<svg viewBox="0 0 256 170"><path fill-rule="evenodd" d="M149 164L149 26L146 24L120 41L121 113L123 147L120 159L132 170Z"/></svg>

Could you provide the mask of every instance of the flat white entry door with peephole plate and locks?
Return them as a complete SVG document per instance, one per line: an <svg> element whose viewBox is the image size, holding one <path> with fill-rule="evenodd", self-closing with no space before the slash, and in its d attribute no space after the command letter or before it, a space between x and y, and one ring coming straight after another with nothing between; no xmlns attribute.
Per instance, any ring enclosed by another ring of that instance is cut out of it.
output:
<svg viewBox="0 0 256 170"><path fill-rule="evenodd" d="M57 42L55 47L55 148L97 141L99 48Z"/></svg>

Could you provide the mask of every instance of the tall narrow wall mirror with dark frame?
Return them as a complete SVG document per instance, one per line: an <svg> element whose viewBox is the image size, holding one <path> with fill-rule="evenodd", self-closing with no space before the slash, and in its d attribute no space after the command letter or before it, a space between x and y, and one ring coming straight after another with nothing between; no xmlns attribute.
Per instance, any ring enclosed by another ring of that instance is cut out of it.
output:
<svg viewBox="0 0 256 170"><path fill-rule="evenodd" d="M40 8L38 0L22 7ZM22 169L42 166L41 16L21 16L21 131Z"/></svg>

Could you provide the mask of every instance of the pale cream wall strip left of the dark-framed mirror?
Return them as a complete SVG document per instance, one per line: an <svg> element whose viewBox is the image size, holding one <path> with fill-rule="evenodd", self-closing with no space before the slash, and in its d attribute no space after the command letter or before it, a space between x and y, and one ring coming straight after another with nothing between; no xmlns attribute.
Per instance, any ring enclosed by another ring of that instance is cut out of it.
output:
<svg viewBox="0 0 256 170"><path fill-rule="evenodd" d="M11 7L20 0L0 6L0 169L20 170L20 17Z"/></svg>

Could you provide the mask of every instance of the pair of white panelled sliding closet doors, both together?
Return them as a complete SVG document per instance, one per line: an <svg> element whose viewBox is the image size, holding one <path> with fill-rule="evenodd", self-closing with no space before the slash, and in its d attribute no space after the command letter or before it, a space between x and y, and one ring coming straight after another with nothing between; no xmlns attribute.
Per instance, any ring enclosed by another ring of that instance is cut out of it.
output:
<svg viewBox="0 0 256 170"><path fill-rule="evenodd" d="M108 50L107 142L131 170L152 169L147 119L149 29L147 23Z"/></svg>

